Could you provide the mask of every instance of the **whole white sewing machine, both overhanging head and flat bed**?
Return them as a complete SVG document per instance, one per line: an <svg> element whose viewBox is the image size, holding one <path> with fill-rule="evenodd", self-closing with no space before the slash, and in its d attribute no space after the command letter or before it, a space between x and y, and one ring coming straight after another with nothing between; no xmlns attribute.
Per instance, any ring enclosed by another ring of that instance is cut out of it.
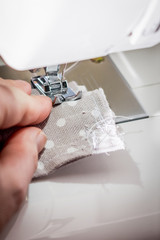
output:
<svg viewBox="0 0 160 240"><path fill-rule="evenodd" d="M160 239L160 72L146 82L137 70L146 58L156 65L160 50L121 52L160 42L160 1L1 0L0 8L0 55L9 66L26 70L110 54L149 115L120 125L125 151L31 183L28 203L2 239Z"/></svg>

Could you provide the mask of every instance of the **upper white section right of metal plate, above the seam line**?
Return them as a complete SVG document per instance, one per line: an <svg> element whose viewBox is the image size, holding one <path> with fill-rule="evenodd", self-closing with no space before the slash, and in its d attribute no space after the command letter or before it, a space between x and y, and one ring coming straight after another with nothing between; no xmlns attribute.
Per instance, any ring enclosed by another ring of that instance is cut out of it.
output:
<svg viewBox="0 0 160 240"><path fill-rule="evenodd" d="M110 55L131 88L160 83L160 44Z"/></svg>

